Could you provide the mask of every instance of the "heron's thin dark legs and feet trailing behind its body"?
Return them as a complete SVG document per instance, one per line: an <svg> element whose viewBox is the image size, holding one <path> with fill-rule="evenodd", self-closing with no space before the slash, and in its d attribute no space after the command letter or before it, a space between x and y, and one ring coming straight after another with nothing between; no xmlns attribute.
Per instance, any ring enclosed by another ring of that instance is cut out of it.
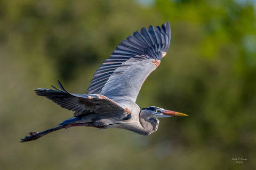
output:
<svg viewBox="0 0 256 170"><path fill-rule="evenodd" d="M58 126L56 128L52 128L52 129L48 129L46 131L43 131L43 132L29 132L29 136L21 139L20 142L28 142L28 141L31 141L31 140L36 140L40 137L43 137L45 134L48 134L48 133L51 133L51 132L54 132L54 131L57 131L57 130L60 130L60 129L67 129L67 128L70 128L70 127L73 127L73 126L85 126L84 123L76 123L76 124L65 124L65 125L61 125L61 126Z"/></svg>

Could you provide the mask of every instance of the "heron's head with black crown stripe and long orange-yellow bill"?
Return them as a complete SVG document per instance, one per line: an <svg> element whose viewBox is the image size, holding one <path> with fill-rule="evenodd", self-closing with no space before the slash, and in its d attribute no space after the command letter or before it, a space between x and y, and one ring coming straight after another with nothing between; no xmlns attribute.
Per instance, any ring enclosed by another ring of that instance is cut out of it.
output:
<svg viewBox="0 0 256 170"><path fill-rule="evenodd" d="M161 118L161 117L171 117L171 116L188 116L183 113L168 111L160 107L150 106L147 108L142 108L141 112L145 113L149 117Z"/></svg>

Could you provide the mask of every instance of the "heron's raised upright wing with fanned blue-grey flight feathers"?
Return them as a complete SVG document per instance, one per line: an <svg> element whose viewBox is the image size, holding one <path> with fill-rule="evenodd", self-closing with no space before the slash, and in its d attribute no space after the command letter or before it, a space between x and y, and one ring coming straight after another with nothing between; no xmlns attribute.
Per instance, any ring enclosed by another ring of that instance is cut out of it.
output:
<svg viewBox="0 0 256 170"><path fill-rule="evenodd" d="M170 23L149 26L127 37L94 74L87 94L135 102L148 75L160 64L171 39Z"/></svg>

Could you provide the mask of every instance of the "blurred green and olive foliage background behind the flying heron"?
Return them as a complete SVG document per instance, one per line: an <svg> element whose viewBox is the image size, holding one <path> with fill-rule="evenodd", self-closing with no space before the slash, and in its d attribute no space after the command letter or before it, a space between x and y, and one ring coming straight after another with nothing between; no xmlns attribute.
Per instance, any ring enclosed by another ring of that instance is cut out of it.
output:
<svg viewBox="0 0 256 170"><path fill-rule="evenodd" d="M0 169L255 169L255 1L0 1ZM141 136L77 127L28 143L72 112L34 89L86 93L123 39L171 23L171 45L137 103L188 117ZM232 158L245 158L238 164Z"/></svg>

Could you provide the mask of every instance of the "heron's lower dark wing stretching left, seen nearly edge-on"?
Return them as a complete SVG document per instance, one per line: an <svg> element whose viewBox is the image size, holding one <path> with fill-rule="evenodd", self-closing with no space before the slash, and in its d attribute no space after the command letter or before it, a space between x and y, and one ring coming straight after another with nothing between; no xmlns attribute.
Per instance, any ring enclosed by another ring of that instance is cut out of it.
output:
<svg viewBox="0 0 256 170"><path fill-rule="evenodd" d="M35 92L38 96L44 96L61 107L74 111L75 116L89 113L107 113L119 115L122 119L127 114L130 114L121 105L103 95L71 94L62 87L59 81L58 84L61 90L52 86L55 90L37 88Z"/></svg>

